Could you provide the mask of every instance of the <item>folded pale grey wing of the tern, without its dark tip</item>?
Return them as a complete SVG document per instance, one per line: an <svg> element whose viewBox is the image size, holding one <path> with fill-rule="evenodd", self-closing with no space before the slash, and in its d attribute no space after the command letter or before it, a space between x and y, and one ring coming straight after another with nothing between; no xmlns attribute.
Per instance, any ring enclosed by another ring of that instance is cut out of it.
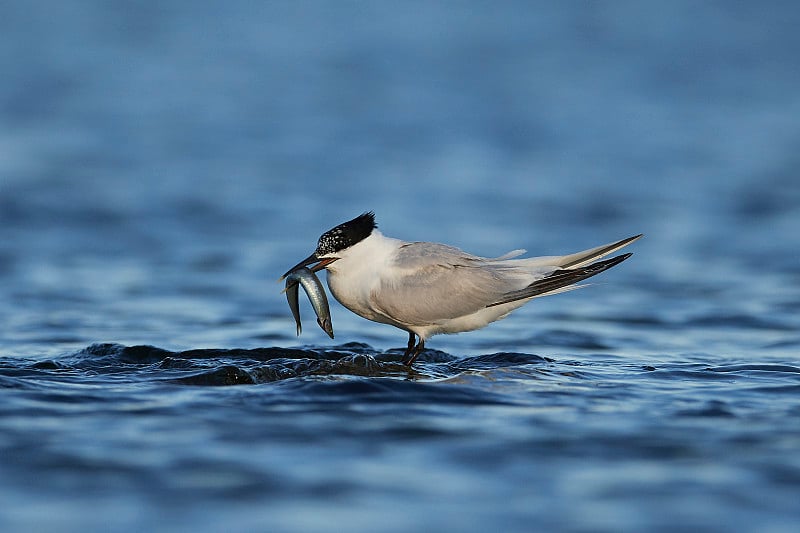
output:
<svg viewBox="0 0 800 533"><path fill-rule="evenodd" d="M372 301L387 317L406 325L469 315L521 288L508 269L443 244L408 243L393 266L401 275L383 279Z"/></svg>

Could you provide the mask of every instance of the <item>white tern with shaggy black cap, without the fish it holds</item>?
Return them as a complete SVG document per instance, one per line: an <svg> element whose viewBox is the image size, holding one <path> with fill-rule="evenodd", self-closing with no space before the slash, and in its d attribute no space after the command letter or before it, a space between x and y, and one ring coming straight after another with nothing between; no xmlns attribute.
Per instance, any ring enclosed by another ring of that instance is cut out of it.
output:
<svg viewBox="0 0 800 533"><path fill-rule="evenodd" d="M312 271L327 269L328 287L339 303L408 332L403 363L410 366L432 335L479 329L533 298L583 287L575 284L632 254L593 261L639 237L570 255L514 259L525 253L514 250L486 258L446 244L386 237L369 212L323 233L314 253L281 279L313 263Z"/></svg>

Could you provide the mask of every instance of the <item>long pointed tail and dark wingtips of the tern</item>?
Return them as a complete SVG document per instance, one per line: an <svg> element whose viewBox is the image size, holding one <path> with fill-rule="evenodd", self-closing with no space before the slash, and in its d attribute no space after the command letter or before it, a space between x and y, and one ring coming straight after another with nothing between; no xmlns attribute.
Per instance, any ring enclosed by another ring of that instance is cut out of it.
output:
<svg viewBox="0 0 800 533"><path fill-rule="evenodd" d="M496 305L515 302L517 300L524 300L527 298L533 298L535 296L543 296L545 294L569 290L571 285L575 285L579 281L583 281L586 278L590 278L599 274L600 272L606 271L632 256L633 254L630 253L622 254L618 255L617 257L612 257L611 259L591 263L591 261L594 259L599 259L619 250L624 246L629 245L639 237L641 237L641 235L636 235L613 244L598 246L597 248L592 248L590 250L564 256L558 263L558 266L561 267L558 270L553 271L551 274L542 279L534 281L523 289L506 293L500 300L489 304L486 307L494 307Z"/></svg>

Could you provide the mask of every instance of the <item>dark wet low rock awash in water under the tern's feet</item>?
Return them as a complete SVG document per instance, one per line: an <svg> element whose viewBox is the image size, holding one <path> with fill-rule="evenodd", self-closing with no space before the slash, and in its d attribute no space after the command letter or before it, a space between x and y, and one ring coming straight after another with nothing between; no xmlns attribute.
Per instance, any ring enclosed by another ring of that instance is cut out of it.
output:
<svg viewBox="0 0 800 533"><path fill-rule="evenodd" d="M438 380L469 371L541 365L553 362L538 355L498 352L458 358L425 350L412 368L402 364L403 351L376 350L363 343L334 347L191 349L172 351L157 346L93 344L58 359L28 361L17 371L62 376L113 376L114 379L160 381L193 386L253 385L291 378L324 376L389 377ZM9 376L9 373L5 373ZM13 374L13 372L11 373Z"/></svg>

